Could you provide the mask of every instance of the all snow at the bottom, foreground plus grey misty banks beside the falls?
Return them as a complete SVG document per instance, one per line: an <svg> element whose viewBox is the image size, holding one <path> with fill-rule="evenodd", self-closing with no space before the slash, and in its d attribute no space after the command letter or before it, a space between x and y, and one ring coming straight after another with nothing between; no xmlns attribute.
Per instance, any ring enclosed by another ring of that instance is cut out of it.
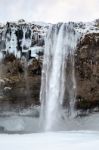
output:
<svg viewBox="0 0 99 150"><path fill-rule="evenodd" d="M0 117L0 127L17 133L0 134L0 150L99 150L98 113L65 121L64 130L70 131L34 133L39 132L39 118L33 117L36 111L7 112L8 117Z"/></svg>

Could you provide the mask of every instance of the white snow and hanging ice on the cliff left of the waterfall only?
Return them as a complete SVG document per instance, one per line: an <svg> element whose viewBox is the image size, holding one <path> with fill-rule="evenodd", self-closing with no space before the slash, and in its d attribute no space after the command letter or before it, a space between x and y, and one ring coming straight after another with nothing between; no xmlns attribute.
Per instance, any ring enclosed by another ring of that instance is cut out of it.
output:
<svg viewBox="0 0 99 150"><path fill-rule="evenodd" d="M18 22L10 22L9 27L7 25L3 26L3 28L0 29L1 33L0 41L4 42L6 48L5 47L1 48L1 51L4 54L11 53L14 54L17 58L21 58L22 55L24 55L24 53L29 52L31 48L35 46L35 44L33 45L34 41L37 42L39 39L41 40L45 38L46 32L48 30L46 27L47 24L44 23L40 24L41 26L39 26L38 24L34 25L32 23L25 23L25 21L21 19ZM23 38L19 40L22 50L21 48L17 49L18 39L16 31L18 31L18 29L23 30ZM28 31L31 31L31 35L29 35L29 37L26 38L26 33L28 33ZM34 53L33 57L38 58L38 55Z"/></svg>

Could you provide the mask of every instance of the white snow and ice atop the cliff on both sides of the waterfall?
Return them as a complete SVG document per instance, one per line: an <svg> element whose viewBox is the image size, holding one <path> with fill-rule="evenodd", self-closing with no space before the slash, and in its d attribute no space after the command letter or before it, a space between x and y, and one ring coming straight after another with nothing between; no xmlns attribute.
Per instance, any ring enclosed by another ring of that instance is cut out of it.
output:
<svg viewBox="0 0 99 150"><path fill-rule="evenodd" d="M82 34L82 38L88 33L99 33L99 27L97 26L96 21L93 22L69 22L74 26L74 28ZM32 47L35 47L35 45L32 45L32 42L34 39L32 39L32 36L34 35L35 41L39 39L45 39L46 33L48 32L49 27L52 26L50 23L44 23L44 22L32 22L32 23L26 23L23 19L19 20L18 22L10 22L10 29L11 29L11 35L10 32L6 34L7 25L3 25L2 28L0 29L0 32L2 33L1 40L2 42L5 41L6 49L2 48L2 52L9 52L13 53L17 58L21 57L21 50L17 50L17 37L15 32L18 30L18 28L22 27L24 37L21 42L22 46L22 52L27 52ZM28 31L28 29L31 30L31 37L25 38L25 33ZM37 41L36 41L37 42ZM37 43L36 43L37 44ZM25 48L25 49L24 49ZM26 51L27 49L27 51ZM31 57L38 58L36 53L33 53Z"/></svg>

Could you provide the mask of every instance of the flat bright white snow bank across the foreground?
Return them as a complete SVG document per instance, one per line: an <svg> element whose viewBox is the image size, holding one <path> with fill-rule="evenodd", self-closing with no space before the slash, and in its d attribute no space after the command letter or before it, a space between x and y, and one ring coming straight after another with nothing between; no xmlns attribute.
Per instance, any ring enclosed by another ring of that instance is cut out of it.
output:
<svg viewBox="0 0 99 150"><path fill-rule="evenodd" d="M99 132L0 135L0 150L99 150Z"/></svg>

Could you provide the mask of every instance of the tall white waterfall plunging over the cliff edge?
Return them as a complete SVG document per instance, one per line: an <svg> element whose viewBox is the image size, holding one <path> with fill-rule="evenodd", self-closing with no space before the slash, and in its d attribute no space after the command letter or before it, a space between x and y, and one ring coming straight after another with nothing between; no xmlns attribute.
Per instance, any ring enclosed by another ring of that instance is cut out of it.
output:
<svg viewBox="0 0 99 150"><path fill-rule="evenodd" d="M61 118L63 103L66 104L67 116L74 113L74 50L78 38L73 23L53 25L48 31L40 91L40 124L46 131L54 130Z"/></svg>

